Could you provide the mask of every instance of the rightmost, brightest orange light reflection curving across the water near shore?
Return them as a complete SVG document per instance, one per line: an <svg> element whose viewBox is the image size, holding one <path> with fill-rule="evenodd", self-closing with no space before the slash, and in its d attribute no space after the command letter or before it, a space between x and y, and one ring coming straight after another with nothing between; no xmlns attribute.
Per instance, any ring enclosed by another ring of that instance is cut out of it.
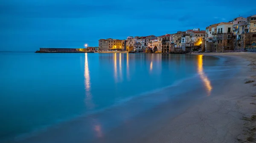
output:
<svg viewBox="0 0 256 143"><path fill-rule="evenodd" d="M208 96L211 94L212 91L212 85L207 76L204 73L204 68L203 68L203 55L198 55L198 74L201 78L201 80L204 83L204 86L207 89Z"/></svg>

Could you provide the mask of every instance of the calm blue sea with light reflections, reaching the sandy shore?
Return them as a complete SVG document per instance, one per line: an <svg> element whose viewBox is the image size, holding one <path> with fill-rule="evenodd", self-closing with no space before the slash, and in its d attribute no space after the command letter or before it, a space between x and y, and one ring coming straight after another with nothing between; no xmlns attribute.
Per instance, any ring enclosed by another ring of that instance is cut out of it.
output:
<svg viewBox="0 0 256 143"><path fill-rule="evenodd" d="M231 61L191 54L0 52L0 142L104 142L121 127L143 131L166 116L161 106L174 117L224 87L215 81L240 68Z"/></svg>

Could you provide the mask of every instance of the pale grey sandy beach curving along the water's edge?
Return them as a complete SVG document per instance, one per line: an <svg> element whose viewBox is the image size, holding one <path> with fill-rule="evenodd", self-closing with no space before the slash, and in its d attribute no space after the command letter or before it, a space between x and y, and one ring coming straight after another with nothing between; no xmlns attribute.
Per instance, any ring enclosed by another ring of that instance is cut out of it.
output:
<svg viewBox="0 0 256 143"><path fill-rule="evenodd" d="M163 122L140 143L255 143L256 53L203 53L232 56L242 70L218 94ZM248 83L247 83L248 82Z"/></svg>

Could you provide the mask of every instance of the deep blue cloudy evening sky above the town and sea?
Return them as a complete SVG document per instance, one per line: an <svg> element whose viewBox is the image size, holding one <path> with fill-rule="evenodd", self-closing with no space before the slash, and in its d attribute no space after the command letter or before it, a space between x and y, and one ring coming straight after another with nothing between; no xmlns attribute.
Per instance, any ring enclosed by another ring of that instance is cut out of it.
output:
<svg viewBox="0 0 256 143"><path fill-rule="evenodd" d="M0 0L0 51L98 46L256 14L256 0Z"/></svg>

